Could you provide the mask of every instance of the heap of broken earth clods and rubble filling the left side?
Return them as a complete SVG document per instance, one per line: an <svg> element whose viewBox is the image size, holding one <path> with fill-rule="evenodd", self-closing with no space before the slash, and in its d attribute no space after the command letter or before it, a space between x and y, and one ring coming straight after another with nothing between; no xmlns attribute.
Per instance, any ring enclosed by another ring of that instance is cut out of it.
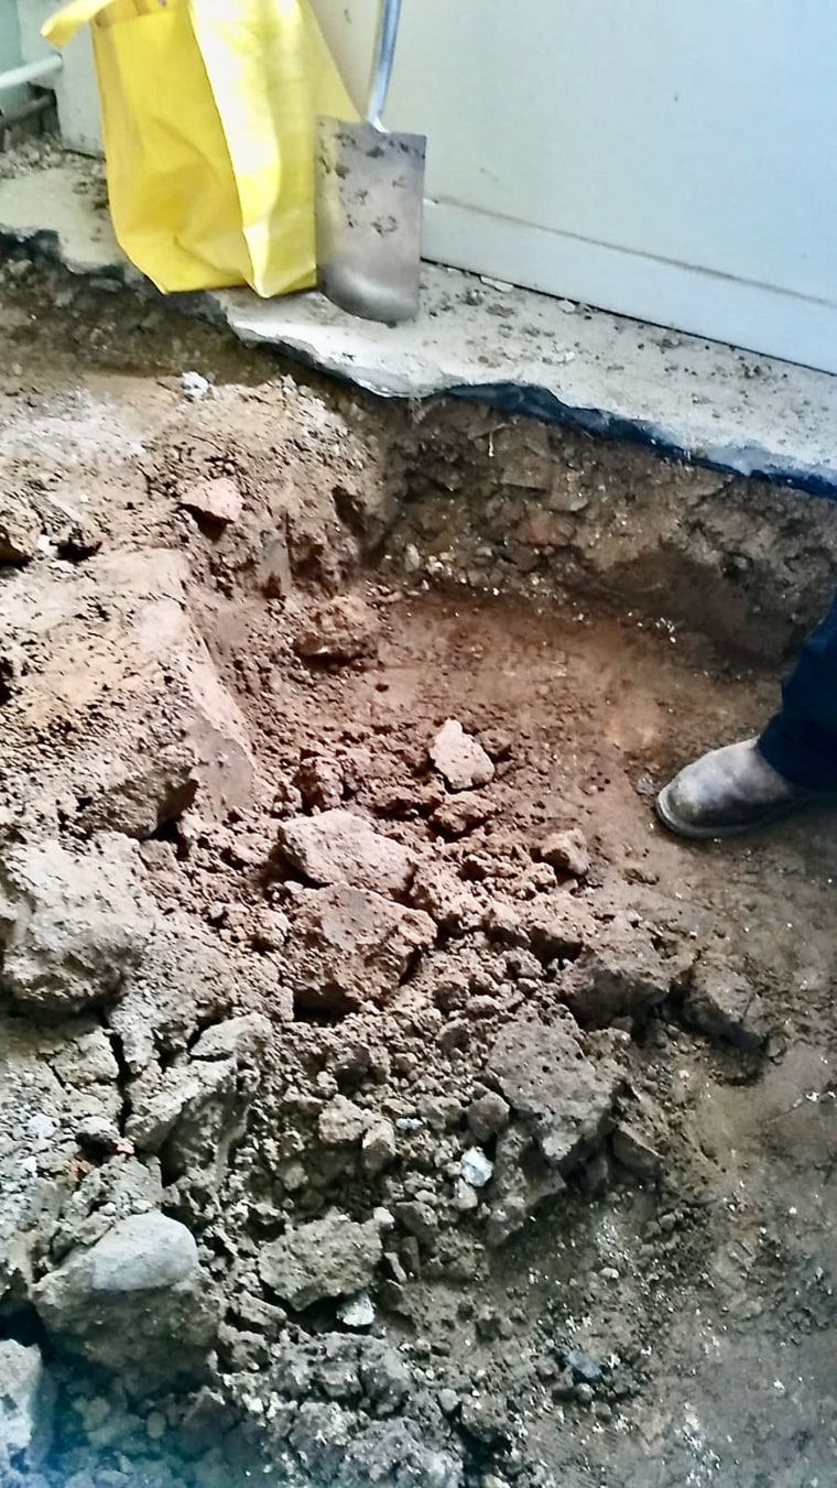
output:
<svg viewBox="0 0 837 1488"><path fill-rule="evenodd" d="M516 826L513 729L300 716L271 751L186 555L100 548L0 510L0 1481L519 1475L485 1382L397 1347L416 1280L467 1292L541 1205L656 1181L635 1040L665 1010L758 1055L758 998L577 824ZM378 665L387 595L278 571L294 696ZM543 1375L602 1420L627 1393L572 1348Z"/></svg>

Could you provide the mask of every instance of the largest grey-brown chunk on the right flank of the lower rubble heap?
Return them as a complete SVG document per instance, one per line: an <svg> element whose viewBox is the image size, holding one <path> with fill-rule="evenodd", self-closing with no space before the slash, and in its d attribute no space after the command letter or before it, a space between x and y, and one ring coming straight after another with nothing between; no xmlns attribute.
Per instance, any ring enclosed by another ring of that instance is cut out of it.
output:
<svg viewBox="0 0 837 1488"><path fill-rule="evenodd" d="M508 1024L491 1051L488 1073L544 1159L563 1176L596 1150L611 1125L617 1073L595 1065L562 1022Z"/></svg>

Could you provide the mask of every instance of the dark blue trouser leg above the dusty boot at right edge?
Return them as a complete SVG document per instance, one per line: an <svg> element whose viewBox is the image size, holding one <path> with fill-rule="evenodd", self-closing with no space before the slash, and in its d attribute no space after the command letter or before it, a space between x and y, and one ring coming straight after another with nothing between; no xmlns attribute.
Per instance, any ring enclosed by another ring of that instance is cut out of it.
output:
<svg viewBox="0 0 837 1488"><path fill-rule="evenodd" d="M782 687L758 741L769 765L807 790L837 790L837 595Z"/></svg>

